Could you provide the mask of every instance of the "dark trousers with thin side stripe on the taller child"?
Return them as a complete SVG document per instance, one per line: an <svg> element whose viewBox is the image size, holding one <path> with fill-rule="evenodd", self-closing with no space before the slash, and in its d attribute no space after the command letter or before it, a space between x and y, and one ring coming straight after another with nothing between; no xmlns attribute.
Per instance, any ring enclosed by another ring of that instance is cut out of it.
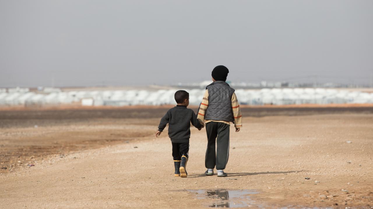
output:
<svg viewBox="0 0 373 209"><path fill-rule="evenodd" d="M206 123L207 149L206 168L225 169L229 157L229 125L220 122ZM215 152L215 142L217 144Z"/></svg>

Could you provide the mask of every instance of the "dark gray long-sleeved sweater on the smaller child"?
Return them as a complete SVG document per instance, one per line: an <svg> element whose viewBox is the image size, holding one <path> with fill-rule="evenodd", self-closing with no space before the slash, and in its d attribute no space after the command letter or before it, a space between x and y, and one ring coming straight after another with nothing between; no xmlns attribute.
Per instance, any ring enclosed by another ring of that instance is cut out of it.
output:
<svg viewBox="0 0 373 209"><path fill-rule="evenodd" d="M168 136L172 142L177 143L189 142L190 123L192 123L195 128L202 127L194 111L181 105L167 111L166 115L163 116L159 123L158 131L163 131L167 123L169 123Z"/></svg>

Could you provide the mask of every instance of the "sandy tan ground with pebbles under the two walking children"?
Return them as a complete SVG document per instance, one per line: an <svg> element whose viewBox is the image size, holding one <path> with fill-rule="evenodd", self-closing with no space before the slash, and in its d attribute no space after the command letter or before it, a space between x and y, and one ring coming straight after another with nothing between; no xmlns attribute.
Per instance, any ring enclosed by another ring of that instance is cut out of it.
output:
<svg viewBox="0 0 373 209"><path fill-rule="evenodd" d="M153 136L162 111L1 113L0 208L373 207L372 113L244 117L225 178L203 175L206 132L193 128L180 178L167 132ZM229 200L208 195L222 190Z"/></svg>

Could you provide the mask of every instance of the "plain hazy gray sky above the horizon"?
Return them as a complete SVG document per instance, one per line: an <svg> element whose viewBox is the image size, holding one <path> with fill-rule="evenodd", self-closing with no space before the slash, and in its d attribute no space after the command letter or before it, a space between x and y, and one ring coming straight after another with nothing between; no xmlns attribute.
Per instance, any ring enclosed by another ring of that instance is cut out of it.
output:
<svg viewBox="0 0 373 209"><path fill-rule="evenodd" d="M216 65L231 81L373 73L372 0L0 0L0 30L3 87L200 82Z"/></svg>

